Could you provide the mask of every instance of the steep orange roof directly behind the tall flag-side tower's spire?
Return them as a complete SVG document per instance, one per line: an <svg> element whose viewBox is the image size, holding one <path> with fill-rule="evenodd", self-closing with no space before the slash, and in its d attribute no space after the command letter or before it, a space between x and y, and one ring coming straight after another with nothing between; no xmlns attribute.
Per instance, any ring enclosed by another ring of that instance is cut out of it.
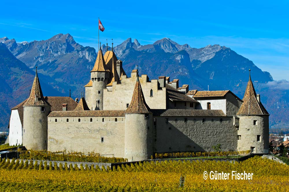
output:
<svg viewBox="0 0 289 192"><path fill-rule="evenodd" d="M107 86L112 86L112 82L117 82L118 84L120 83L118 74L116 72L116 55L114 54L113 51L107 51L105 52L104 56L104 61L106 63L105 68L110 70L110 80L108 81Z"/></svg>

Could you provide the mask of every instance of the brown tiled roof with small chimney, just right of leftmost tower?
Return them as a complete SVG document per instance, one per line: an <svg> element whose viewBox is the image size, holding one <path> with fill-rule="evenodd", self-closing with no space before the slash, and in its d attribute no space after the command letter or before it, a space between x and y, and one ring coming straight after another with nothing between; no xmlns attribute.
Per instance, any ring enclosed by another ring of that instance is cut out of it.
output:
<svg viewBox="0 0 289 192"><path fill-rule="evenodd" d="M51 111L62 111L62 104L67 103L67 110L73 111L77 103L71 97L45 97L51 105Z"/></svg>

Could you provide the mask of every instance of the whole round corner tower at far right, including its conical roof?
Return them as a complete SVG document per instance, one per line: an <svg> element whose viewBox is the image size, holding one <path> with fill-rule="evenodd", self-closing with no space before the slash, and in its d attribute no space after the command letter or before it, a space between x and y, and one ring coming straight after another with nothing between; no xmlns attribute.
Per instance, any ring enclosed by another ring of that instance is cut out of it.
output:
<svg viewBox="0 0 289 192"><path fill-rule="evenodd" d="M256 95L250 71L249 69L249 81L243 97L244 102L235 117L239 118L238 150L268 153L269 114L260 101L260 95Z"/></svg>

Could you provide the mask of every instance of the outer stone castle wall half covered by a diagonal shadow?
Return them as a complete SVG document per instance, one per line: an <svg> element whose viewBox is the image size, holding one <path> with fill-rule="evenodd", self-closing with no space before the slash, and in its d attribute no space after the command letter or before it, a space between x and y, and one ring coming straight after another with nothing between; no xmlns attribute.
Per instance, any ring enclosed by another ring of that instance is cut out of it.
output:
<svg viewBox="0 0 289 192"><path fill-rule="evenodd" d="M232 117L154 116L154 153L223 151L237 149L237 129ZM168 118L168 123L165 122ZM185 122L185 118L187 122ZM205 119L205 122L203 121ZM222 119L222 122L220 120Z"/></svg>

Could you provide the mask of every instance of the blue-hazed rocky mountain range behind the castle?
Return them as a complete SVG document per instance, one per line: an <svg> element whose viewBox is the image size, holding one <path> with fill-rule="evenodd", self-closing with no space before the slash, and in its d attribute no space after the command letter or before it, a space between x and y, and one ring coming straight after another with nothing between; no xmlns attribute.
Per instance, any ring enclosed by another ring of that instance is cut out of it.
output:
<svg viewBox="0 0 289 192"><path fill-rule="evenodd" d="M103 54L110 46L101 46ZM191 48L169 38L153 44L140 45L137 39L128 38L113 47L128 75L132 69L148 74L151 79L170 76L190 89L231 90L241 99L251 69L252 80L261 101L271 114L270 127L289 127L288 90L268 86L272 76L258 68L249 59L220 45ZM29 88L38 66L40 83L45 96L69 95L79 97L90 79L97 57L96 50L76 43L70 34L58 34L50 39L17 43L15 39L0 38L1 80L0 110L3 118L0 129L7 128L10 109L28 97ZM268 83L269 82L269 83Z"/></svg>

